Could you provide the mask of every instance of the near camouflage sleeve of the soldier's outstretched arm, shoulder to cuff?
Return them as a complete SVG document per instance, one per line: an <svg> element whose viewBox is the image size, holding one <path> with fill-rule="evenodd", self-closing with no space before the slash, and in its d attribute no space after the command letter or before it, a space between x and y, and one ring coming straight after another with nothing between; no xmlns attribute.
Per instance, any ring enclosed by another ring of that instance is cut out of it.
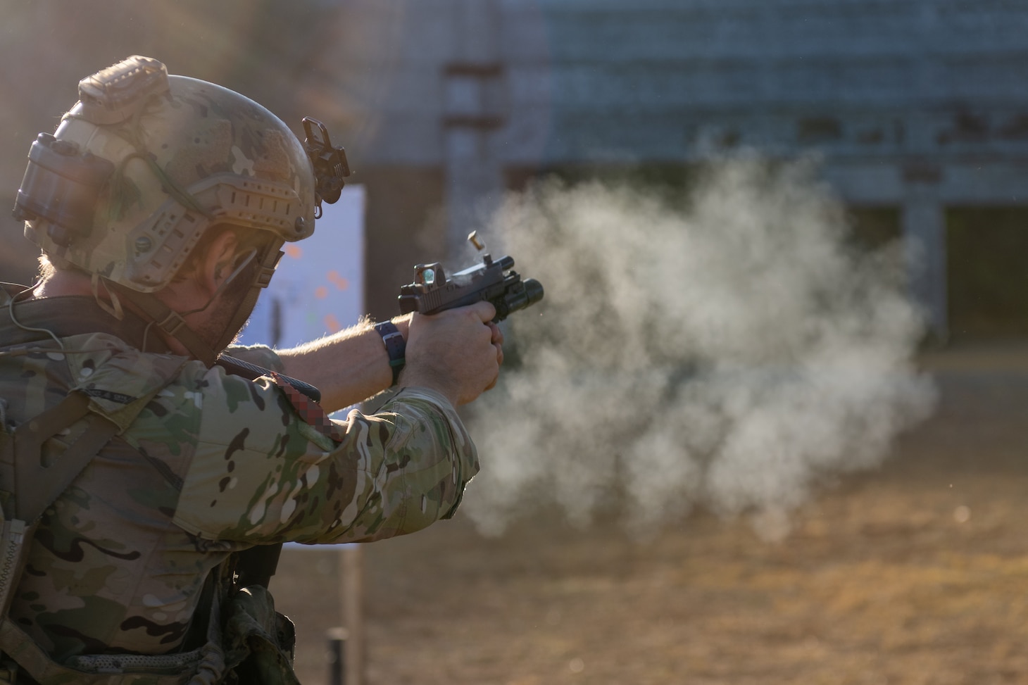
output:
<svg viewBox="0 0 1028 685"><path fill-rule="evenodd" d="M208 371L201 419L175 522L208 539L366 542L452 515L478 457L455 410L405 389L374 414L335 422L341 441L304 423L268 378ZM187 390L183 389L183 392ZM326 419L327 421L327 419Z"/></svg>

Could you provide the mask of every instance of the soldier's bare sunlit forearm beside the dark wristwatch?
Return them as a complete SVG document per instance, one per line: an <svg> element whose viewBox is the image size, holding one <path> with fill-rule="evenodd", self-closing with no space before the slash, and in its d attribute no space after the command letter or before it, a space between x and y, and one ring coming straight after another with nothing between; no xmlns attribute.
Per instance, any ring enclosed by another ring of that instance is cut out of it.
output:
<svg viewBox="0 0 1028 685"><path fill-rule="evenodd" d="M393 319L406 337L409 317ZM335 411L388 389L393 369L382 338L370 323L290 350L280 350L285 373L316 386L321 405Z"/></svg>

